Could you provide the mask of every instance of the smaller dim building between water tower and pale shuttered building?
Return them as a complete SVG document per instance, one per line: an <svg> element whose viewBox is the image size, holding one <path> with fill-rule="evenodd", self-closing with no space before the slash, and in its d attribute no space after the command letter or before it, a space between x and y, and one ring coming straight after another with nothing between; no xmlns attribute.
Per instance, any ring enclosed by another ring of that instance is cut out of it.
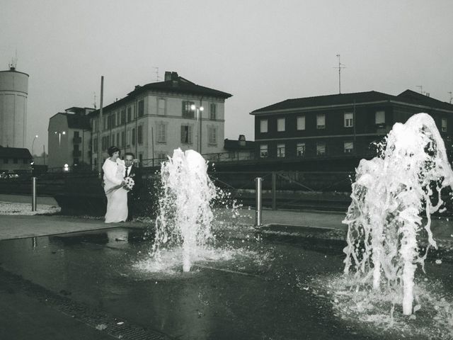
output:
<svg viewBox="0 0 453 340"><path fill-rule="evenodd" d="M91 169L91 125L94 108L68 108L49 120L47 165L50 171Z"/></svg>

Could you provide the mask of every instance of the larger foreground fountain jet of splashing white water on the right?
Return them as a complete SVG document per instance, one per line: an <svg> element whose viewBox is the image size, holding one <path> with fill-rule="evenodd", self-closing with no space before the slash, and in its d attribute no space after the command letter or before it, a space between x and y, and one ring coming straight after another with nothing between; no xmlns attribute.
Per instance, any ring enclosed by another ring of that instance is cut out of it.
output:
<svg viewBox="0 0 453 340"><path fill-rule="evenodd" d="M442 189L452 184L445 145L430 115L419 113L405 124L396 123L381 157L362 159L356 169L343 221L348 225L344 272L354 272L364 287L372 284L374 290L382 281L402 289L403 314L412 314L415 269L418 263L423 268L430 246L437 248L430 216L443 204ZM422 211L428 219L423 256L418 253Z"/></svg>

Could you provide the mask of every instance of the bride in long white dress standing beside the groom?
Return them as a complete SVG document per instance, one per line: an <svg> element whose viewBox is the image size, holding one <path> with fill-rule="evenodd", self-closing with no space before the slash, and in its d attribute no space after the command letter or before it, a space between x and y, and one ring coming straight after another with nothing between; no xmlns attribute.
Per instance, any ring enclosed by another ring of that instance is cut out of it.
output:
<svg viewBox="0 0 453 340"><path fill-rule="evenodd" d="M104 171L104 191L107 196L105 223L124 222L127 220L127 190L124 187L109 191L115 186L124 185L125 162L120 159L120 149L109 147L108 155L102 166Z"/></svg>

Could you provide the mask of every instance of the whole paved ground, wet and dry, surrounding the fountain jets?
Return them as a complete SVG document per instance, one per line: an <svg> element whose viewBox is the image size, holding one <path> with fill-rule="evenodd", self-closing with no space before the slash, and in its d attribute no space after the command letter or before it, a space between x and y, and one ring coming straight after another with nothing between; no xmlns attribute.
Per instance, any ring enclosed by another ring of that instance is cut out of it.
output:
<svg viewBox="0 0 453 340"><path fill-rule="evenodd" d="M263 210L256 230L254 213L217 210L214 249L229 255L191 273L147 267L151 221L0 215L0 339L383 339L314 284L343 271L344 214ZM443 252L429 253L428 283L449 296L452 223L432 229Z"/></svg>

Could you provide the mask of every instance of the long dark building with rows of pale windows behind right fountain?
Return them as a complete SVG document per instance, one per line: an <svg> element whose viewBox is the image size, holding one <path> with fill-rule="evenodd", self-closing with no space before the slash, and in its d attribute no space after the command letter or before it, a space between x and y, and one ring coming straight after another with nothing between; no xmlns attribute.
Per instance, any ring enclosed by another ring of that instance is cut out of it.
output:
<svg viewBox="0 0 453 340"><path fill-rule="evenodd" d="M360 159L376 155L376 143L394 123L415 113L434 118L452 152L453 105L407 90L288 99L251 113L260 159Z"/></svg>

